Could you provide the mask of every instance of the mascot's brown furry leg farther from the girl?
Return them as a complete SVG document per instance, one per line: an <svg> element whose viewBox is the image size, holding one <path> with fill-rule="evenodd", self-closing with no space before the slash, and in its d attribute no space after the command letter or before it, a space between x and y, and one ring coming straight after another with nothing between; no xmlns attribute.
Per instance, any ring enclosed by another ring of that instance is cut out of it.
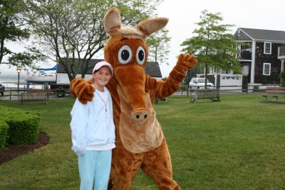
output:
<svg viewBox="0 0 285 190"><path fill-rule="evenodd" d="M155 180L159 189L180 189L172 179L170 153L165 139L157 149L145 153L141 167L145 174Z"/></svg>

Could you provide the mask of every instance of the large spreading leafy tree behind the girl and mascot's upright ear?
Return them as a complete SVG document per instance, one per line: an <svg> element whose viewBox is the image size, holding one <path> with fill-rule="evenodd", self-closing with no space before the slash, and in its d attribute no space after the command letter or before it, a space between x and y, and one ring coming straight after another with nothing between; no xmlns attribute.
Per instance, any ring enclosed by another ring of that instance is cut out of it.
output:
<svg viewBox="0 0 285 190"><path fill-rule="evenodd" d="M72 80L78 73L84 78L90 69L90 59L101 52L108 39L103 24L105 11L118 7L123 24L136 26L154 14L158 3L158 0L27 0L26 18L38 48L61 63Z"/></svg>

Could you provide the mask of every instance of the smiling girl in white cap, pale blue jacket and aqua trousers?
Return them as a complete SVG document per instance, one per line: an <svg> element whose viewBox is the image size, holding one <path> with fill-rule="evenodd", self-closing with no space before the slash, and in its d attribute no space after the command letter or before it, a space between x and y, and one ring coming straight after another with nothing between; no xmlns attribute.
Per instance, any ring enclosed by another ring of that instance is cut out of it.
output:
<svg viewBox="0 0 285 190"><path fill-rule="evenodd" d="M112 149L115 148L113 105L105 87L113 75L106 61L93 69L94 98L87 104L78 99L71 110L72 150L78 154L81 189L105 190L108 186Z"/></svg>

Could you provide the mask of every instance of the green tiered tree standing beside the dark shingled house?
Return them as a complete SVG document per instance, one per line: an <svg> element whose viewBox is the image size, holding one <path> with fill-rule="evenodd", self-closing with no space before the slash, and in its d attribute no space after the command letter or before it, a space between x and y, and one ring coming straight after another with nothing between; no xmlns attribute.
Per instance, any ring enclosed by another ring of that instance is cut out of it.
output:
<svg viewBox="0 0 285 190"><path fill-rule="evenodd" d="M204 64L205 78L207 78L209 67L225 71L232 70L236 73L241 71L239 61L232 55L237 54L239 42L228 33L234 25L219 24L221 21L223 18L220 13L202 11L200 21L197 23L199 28L193 31L195 36L181 44L185 46L182 51L196 56L199 65ZM205 88L207 88L207 80Z"/></svg>

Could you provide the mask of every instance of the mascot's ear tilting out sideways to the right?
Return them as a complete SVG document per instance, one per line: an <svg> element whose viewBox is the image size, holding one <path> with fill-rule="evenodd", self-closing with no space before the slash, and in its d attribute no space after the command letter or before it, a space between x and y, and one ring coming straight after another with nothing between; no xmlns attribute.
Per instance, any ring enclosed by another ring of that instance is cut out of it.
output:
<svg viewBox="0 0 285 190"><path fill-rule="evenodd" d="M160 29L162 29L167 24L167 22L167 18L154 17L141 21L138 24L137 29L138 31L142 32L142 34L144 34L145 38L147 36L150 36L150 34L154 33L155 31L159 31Z"/></svg>

